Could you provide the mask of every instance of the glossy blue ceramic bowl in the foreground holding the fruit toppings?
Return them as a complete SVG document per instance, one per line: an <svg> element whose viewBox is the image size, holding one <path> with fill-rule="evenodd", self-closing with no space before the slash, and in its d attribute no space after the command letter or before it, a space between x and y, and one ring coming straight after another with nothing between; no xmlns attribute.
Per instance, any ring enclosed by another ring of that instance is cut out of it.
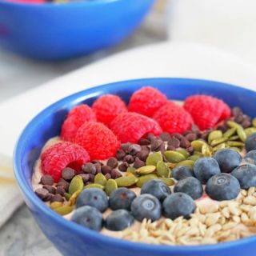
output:
<svg viewBox="0 0 256 256"><path fill-rule="evenodd" d="M221 82L182 78L150 78L115 82L84 90L64 98L43 110L23 130L14 151L14 172L23 197L36 222L54 246L64 255L85 256L252 256L256 250L256 237L214 246L152 246L110 238L87 230L55 214L31 189L34 162L45 142L60 132L67 112L73 106L92 104L102 94L118 94L126 102L134 90L142 86L155 86L168 98L183 100L191 94L210 94L222 98L230 106L241 106L255 116L256 92Z"/></svg>

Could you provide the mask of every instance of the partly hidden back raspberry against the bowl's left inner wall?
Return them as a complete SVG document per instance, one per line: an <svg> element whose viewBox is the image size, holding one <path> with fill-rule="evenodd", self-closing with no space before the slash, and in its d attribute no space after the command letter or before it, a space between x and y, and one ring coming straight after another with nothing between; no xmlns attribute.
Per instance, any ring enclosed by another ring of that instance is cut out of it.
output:
<svg viewBox="0 0 256 256"><path fill-rule="evenodd" d="M75 106L62 124L61 138L68 142L74 142L78 128L86 121L95 121L96 115L90 106L82 104Z"/></svg>

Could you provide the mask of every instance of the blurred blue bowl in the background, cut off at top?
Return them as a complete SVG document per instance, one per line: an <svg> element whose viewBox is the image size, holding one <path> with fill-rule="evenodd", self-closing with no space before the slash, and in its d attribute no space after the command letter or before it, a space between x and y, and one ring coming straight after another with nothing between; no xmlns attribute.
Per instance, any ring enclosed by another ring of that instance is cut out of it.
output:
<svg viewBox="0 0 256 256"><path fill-rule="evenodd" d="M25 4L0 0L0 46L58 60L112 46L142 22L154 0Z"/></svg>

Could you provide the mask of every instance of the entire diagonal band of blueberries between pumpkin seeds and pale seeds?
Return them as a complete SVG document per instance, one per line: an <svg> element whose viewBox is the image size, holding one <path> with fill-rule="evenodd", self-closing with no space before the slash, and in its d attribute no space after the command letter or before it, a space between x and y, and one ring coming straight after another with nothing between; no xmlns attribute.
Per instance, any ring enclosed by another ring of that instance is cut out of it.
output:
<svg viewBox="0 0 256 256"><path fill-rule="evenodd" d="M178 166L172 176L178 182L174 193L159 179L153 179L142 186L141 194L133 190L118 188L110 198L99 189L90 188L79 194L77 210L71 218L90 230L124 230L144 218L152 222L161 218L190 218L194 213L195 199L201 198L205 186L206 194L217 201L237 198L242 189L256 186L256 134L246 140L245 158L235 150L218 150L213 158L199 158L193 170ZM104 219L102 213L110 208L111 213Z"/></svg>

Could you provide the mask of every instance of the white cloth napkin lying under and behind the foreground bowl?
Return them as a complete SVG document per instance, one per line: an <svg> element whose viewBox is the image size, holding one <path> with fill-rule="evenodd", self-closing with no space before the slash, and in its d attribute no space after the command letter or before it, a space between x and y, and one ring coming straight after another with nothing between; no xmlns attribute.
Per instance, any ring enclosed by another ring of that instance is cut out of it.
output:
<svg viewBox="0 0 256 256"><path fill-rule="evenodd" d="M220 50L170 42L128 50L85 66L0 104L0 177L12 175L12 152L23 127L50 103L90 86L146 77L204 78L254 88L256 72L254 66ZM14 184L0 179L0 226L21 202Z"/></svg>

